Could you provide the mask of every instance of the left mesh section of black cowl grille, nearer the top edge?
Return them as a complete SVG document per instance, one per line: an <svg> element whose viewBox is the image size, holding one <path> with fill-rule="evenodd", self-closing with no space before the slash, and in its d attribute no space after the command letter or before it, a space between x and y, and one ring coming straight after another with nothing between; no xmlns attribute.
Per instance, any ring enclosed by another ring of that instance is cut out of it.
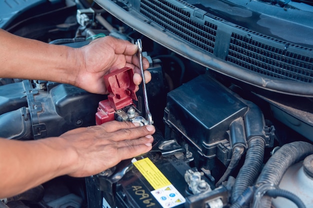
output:
<svg viewBox="0 0 313 208"><path fill-rule="evenodd" d="M140 13L192 45L213 53L216 25L201 25L191 20L187 11L165 0L141 0Z"/></svg>

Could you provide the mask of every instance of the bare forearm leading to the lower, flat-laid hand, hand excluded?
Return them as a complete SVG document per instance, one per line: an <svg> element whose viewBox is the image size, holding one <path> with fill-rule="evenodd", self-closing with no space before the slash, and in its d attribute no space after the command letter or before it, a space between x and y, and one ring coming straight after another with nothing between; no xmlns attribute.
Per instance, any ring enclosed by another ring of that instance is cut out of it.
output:
<svg viewBox="0 0 313 208"><path fill-rule="evenodd" d="M75 152L62 138L35 141L0 139L0 199L68 174Z"/></svg>

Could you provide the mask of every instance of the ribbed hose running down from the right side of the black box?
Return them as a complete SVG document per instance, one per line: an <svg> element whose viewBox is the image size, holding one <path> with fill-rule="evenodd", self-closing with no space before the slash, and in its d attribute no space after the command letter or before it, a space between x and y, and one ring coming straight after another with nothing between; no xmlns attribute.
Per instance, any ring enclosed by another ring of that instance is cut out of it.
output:
<svg viewBox="0 0 313 208"><path fill-rule="evenodd" d="M243 166L241 167L231 191L231 204L248 188L254 184L263 164L265 142L261 137L248 140Z"/></svg>

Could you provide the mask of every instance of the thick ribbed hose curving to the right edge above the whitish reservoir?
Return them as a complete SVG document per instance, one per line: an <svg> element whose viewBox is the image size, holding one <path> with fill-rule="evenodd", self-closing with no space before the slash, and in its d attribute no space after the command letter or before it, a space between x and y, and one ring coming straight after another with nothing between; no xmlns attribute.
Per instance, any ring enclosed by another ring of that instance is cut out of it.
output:
<svg viewBox="0 0 313 208"><path fill-rule="evenodd" d="M298 141L283 145L265 164L256 181L256 186L263 184L278 186L283 174L292 164L311 154L313 154L313 145L307 142ZM261 208L270 207L271 198L264 196L260 205Z"/></svg>

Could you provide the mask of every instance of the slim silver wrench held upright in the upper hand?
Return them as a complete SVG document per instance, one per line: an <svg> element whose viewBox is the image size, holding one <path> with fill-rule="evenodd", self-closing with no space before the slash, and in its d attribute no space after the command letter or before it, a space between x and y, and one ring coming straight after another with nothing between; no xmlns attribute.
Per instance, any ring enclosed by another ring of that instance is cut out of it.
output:
<svg viewBox="0 0 313 208"><path fill-rule="evenodd" d="M145 79L144 79L144 73L143 73L141 39L137 39L136 44L138 45L138 59L139 59L141 77L142 77L142 89L143 89L143 98L144 98L144 107L145 107L145 119L148 121L149 125L152 125L153 124L152 115L151 115L150 109L149 109L148 96L146 93Z"/></svg>

